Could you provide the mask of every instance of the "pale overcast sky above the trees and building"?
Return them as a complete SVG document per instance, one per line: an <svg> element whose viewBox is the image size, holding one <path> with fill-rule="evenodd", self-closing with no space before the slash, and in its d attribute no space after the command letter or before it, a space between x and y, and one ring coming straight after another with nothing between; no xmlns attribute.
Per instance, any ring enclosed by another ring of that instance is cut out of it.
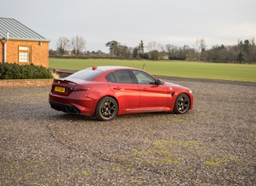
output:
<svg viewBox="0 0 256 186"><path fill-rule="evenodd" d="M193 47L204 39L210 49L256 39L255 0L5 0L0 17L50 39L50 49L60 36L82 36L86 50L102 52L111 40Z"/></svg>

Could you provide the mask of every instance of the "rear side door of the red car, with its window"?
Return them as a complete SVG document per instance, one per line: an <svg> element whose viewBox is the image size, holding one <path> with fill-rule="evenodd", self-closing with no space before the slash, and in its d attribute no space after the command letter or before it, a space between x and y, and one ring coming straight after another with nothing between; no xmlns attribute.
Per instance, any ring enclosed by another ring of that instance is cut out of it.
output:
<svg viewBox="0 0 256 186"><path fill-rule="evenodd" d="M140 90L128 70L116 70L106 79L118 99L119 113L135 112L140 108Z"/></svg>

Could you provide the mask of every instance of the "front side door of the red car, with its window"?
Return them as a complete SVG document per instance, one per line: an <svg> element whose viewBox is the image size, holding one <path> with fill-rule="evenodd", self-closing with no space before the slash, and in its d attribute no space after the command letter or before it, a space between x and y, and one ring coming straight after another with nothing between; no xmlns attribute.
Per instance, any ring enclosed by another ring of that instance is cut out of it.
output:
<svg viewBox="0 0 256 186"><path fill-rule="evenodd" d="M132 70L137 78L137 83L141 91L141 110L163 110L167 107L169 90L163 85L158 85L156 79L150 74L140 70Z"/></svg>

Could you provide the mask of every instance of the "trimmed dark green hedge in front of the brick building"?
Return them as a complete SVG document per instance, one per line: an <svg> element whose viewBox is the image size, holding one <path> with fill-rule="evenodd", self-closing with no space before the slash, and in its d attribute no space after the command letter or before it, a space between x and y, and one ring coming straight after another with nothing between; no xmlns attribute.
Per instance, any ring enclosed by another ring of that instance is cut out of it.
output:
<svg viewBox="0 0 256 186"><path fill-rule="evenodd" d="M43 66L2 63L0 64L0 79L35 79L53 78L50 70Z"/></svg>

